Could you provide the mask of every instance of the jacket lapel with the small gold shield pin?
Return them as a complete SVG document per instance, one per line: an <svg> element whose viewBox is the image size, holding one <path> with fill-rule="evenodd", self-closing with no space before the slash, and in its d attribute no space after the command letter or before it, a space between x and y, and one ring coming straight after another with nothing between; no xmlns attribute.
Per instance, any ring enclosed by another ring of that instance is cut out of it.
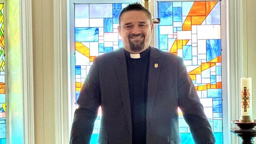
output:
<svg viewBox="0 0 256 144"><path fill-rule="evenodd" d="M150 47L149 74L148 74L148 96L147 96L147 127L152 115L152 107L156 95L156 88L160 74L161 63L158 60L158 52Z"/></svg>

